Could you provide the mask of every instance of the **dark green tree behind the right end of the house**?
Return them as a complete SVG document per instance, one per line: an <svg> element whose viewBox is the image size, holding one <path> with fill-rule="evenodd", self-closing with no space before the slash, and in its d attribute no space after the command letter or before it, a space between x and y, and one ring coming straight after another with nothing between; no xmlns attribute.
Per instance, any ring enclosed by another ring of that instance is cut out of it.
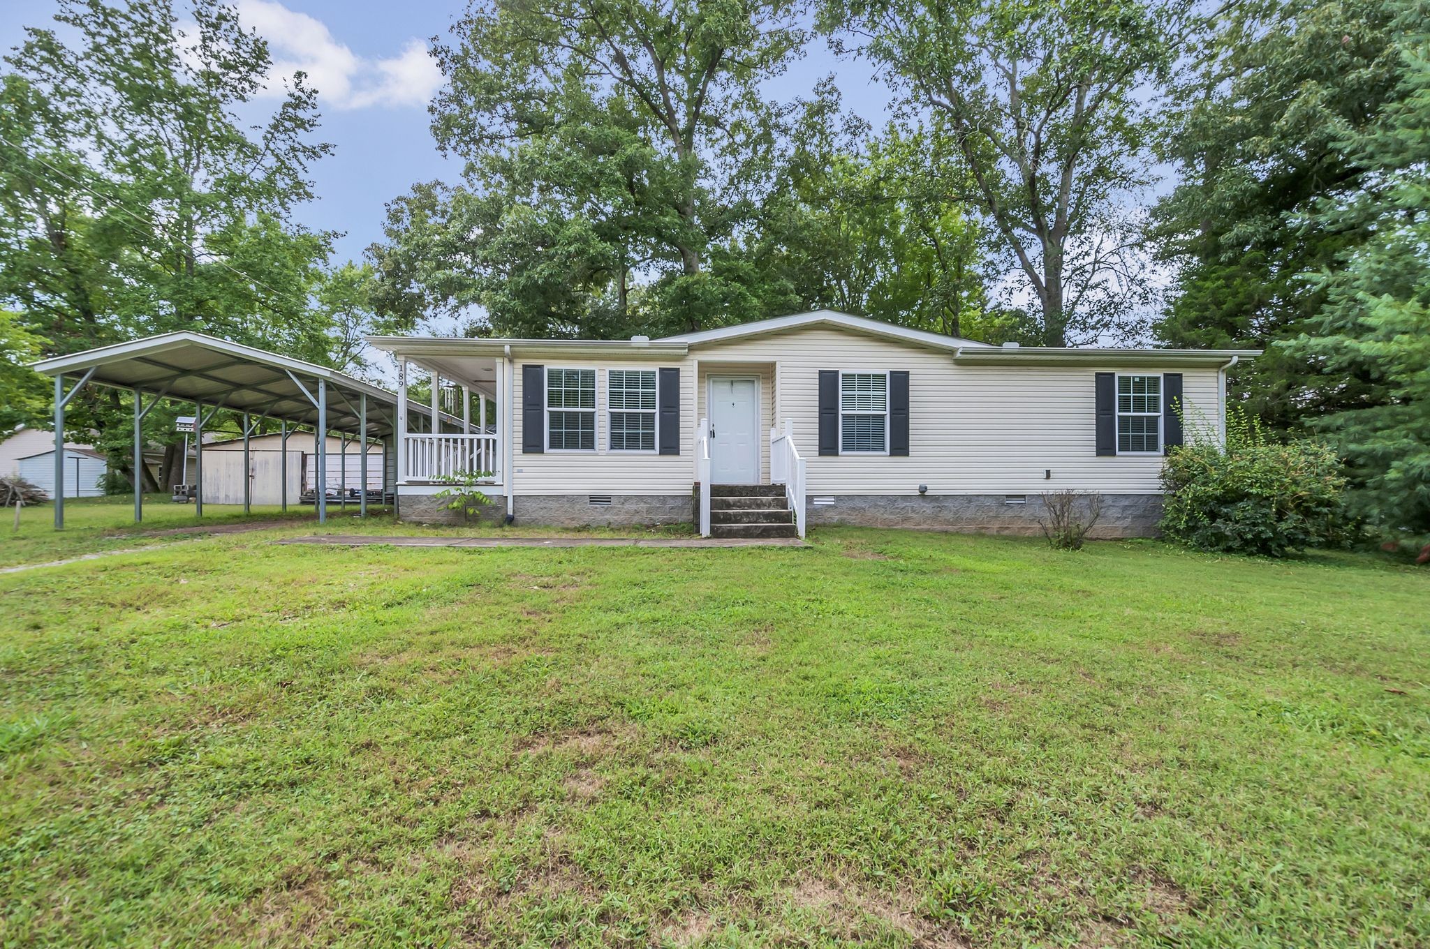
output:
<svg viewBox="0 0 1430 949"><path fill-rule="evenodd" d="M1267 349L1231 387L1273 429L1360 404L1374 387L1354 366L1326 376L1274 343L1304 332L1326 302L1301 274L1369 233L1306 216L1370 172L1344 143L1397 97L1394 14L1384 0L1234 4L1171 96L1164 157L1178 184L1154 209L1151 236L1177 280L1154 332L1171 346Z"/></svg>

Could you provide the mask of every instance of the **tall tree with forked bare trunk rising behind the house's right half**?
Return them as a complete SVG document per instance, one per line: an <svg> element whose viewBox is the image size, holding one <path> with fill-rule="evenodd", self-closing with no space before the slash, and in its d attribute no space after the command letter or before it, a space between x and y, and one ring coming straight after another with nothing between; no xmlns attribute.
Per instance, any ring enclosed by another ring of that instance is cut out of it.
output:
<svg viewBox="0 0 1430 949"><path fill-rule="evenodd" d="M824 27L927 111L975 207L1035 300L1047 346L1120 329L1148 287L1128 200L1148 183L1151 110L1185 0L825 0Z"/></svg>

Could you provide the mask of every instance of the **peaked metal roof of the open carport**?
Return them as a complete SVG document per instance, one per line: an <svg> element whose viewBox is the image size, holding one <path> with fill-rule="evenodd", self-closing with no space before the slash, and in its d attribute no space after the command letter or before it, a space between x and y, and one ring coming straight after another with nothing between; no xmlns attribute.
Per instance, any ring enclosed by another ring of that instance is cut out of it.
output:
<svg viewBox="0 0 1430 949"><path fill-rule="evenodd" d="M102 386L306 426L317 424L317 407L309 394L316 394L322 382L329 393L327 429L355 432L366 397L372 436L392 432L392 409L398 404L398 396L386 389L327 366L192 332L54 356L33 369L47 376L83 376L93 370L90 382ZM409 410L426 412L416 404Z"/></svg>

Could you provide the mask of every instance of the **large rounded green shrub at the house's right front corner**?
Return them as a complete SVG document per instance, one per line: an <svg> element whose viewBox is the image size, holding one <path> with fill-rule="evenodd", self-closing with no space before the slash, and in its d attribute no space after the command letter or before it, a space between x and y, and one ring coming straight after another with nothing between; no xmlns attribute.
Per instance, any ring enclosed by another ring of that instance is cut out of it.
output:
<svg viewBox="0 0 1430 949"><path fill-rule="evenodd" d="M1346 476L1328 446L1271 442L1236 409L1224 440L1207 426L1190 433L1163 466L1167 539L1280 557L1347 536Z"/></svg>

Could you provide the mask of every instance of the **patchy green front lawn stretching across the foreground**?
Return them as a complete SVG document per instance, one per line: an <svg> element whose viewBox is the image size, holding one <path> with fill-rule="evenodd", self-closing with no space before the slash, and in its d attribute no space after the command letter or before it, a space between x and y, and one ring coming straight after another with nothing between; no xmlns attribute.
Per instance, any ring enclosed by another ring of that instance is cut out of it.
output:
<svg viewBox="0 0 1430 949"><path fill-rule="evenodd" d="M1423 569L290 530L0 576L0 943L1430 945Z"/></svg>

